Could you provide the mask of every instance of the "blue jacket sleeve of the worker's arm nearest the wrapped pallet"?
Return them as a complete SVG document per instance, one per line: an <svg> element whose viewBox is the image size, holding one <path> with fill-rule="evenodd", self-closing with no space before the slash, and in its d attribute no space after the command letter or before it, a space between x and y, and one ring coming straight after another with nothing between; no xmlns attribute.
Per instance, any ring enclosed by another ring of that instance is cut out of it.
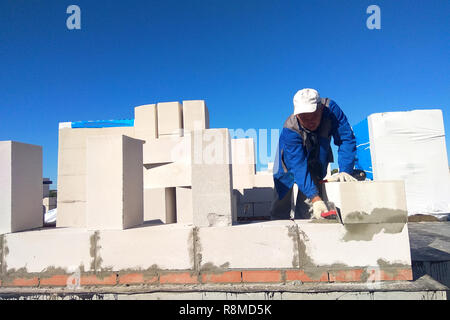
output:
<svg viewBox="0 0 450 320"><path fill-rule="evenodd" d="M347 117L333 100L330 101L333 119L333 140L338 146L339 171L353 173L356 156L356 139Z"/></svg>

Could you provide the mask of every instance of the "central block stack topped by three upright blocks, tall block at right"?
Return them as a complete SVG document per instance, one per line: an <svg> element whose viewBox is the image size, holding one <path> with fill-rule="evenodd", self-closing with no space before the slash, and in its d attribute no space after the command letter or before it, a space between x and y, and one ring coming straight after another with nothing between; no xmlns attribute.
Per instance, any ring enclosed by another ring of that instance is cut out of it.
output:
<svg viewBox="0 0 450 320"><path fill-rule="evenodd" d="M231 225L234 210L229 133L226 129L209 129L203 100L137 107L135 132L137 138L146 141L145 221ZM210 142L218 145L211 146ZM208 148L216 147L223 158L208 163L203 156Z"/></svg>

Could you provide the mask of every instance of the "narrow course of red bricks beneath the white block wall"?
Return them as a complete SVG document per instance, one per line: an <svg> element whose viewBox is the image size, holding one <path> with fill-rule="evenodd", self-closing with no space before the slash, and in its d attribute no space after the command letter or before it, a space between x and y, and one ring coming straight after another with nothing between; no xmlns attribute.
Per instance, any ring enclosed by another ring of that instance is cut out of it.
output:
<svg viewBox="0 0 450 320"><path fill-rule="evenodd" d="M38 276L3 278L3 287L65 287L70 275L53 275L39 278ZM74 282L76 281L75 279ZM109 274L82 274L81 286L114 286L139 284L197 284L197 283L283 283L291 281L302 282L361 282L361 281L406 281L412 280L411 269L366 270L349 269L324 271L322 274L305 272L304 270L229 270L224 272L201 272L199 275L189 271L162 272L148 275L144 272L129 272ZM76 283L73 283L75 285Z"/></svg>

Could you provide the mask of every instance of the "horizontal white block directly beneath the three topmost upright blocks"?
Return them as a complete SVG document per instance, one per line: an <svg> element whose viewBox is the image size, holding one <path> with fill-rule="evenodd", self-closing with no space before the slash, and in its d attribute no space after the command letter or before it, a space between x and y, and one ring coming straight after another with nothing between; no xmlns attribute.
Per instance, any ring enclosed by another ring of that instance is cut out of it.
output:
<svg viewBox="0 0 450 320"><path fill-rule="evenodd" d="M144 164L190 162L191 138L189 136L162 136L144 144Z"/></svg>

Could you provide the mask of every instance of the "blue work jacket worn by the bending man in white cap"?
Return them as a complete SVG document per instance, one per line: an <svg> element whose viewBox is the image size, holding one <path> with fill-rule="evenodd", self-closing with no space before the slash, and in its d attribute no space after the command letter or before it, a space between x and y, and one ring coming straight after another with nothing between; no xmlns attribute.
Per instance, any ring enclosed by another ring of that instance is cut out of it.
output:
<svg viewBox="0 0 450 320"><path fill-rule="evenodd" d="M281 131L278 150L274 163L274 183L278 198L282 199L292 188L298 185L306 197L314 198L319 194L317 181L327 173L329 162L333 162L331 137L338 146L338 164L340 172L352 174L356 156L356 140L347 117L333 100L322 98L325 106L319 127L314 131L318 135L319 156L321 163L320 177L312 177L308 169L308 150L304 144L305 129L301 127L297 117L291 115ZM307 130L306 130L307 131Z"/></svg>

